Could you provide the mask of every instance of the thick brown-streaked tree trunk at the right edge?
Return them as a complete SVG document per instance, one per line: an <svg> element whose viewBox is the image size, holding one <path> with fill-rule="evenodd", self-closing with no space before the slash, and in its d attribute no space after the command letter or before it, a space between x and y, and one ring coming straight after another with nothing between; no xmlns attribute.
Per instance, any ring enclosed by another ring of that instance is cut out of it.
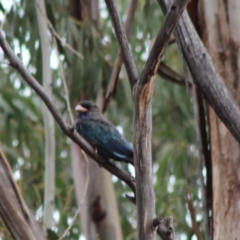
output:
<svg viewBox="0 0 240 240"><path fill-rule="evenodd" d="M225 84L240 104L240 1L203 0L203 41ZM212 175L213 239L240 236L240 145L209 108Z"/></svg>

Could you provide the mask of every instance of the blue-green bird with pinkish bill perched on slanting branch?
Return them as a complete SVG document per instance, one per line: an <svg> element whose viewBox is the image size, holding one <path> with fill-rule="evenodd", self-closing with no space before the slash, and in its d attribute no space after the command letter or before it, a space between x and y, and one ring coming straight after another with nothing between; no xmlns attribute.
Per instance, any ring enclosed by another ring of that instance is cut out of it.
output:
<svg viewBox="0 0 240 240"><path fill-rule="evenodd" d="M104 159L133 164L133 147L119 131L105 120L96 104L84 100L75 110L77 132Z"/></svg>

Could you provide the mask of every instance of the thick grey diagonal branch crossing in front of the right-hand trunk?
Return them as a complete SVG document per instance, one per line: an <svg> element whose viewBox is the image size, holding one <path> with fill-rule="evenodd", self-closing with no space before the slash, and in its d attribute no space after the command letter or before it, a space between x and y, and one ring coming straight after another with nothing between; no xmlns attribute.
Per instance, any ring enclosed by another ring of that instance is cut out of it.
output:
<svg viewBox="0 0 240 240"><path fill-rule="evenodd" d="M158 0L158 3L166 14L170 6L169 1ZM218 117L240 142L239 106L225 86L186 12L178 23L175 36L195 84Z"/></svg>

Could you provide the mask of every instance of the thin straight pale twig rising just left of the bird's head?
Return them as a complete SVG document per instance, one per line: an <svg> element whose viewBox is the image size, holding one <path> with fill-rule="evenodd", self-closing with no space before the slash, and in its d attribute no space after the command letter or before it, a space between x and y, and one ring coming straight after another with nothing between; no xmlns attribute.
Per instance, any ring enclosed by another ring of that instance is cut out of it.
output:
<svg viewBox="0 0 240 240"><path fill-rule="evenodd" d="M59 49L58 49L58 45L57 45L57 41L56 41L56 38L55 38L55 37L53 37L53 43L54 43L55 49L56 49L57 54L58 54L60 74L61 74L61 76L62 76L62 81L63 81L63 87L64 87L64 91L65 91L65 99L66 99L66 103L67 103L68 114L69 114L71 123L74 124L74 118L73 118L73 113L72 113L71 104L70 104L70 99L69 99L68 86L67 86L67 82L66 82L66 78L65 78L65 74L64 74L62 62L61 62L61 60L60 60L60 58L59 58Z"/></svg>

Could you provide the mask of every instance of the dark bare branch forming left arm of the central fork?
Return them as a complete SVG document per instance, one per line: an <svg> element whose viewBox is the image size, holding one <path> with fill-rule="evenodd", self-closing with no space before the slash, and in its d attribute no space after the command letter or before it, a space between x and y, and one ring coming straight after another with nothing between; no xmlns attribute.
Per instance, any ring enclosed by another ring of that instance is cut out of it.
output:
<svg viewBox="0 0 240 240"><path fill-rule="evenodd" d="M136 64L132 56L132 52L130 50L130 47L127 41L127 36L121 24L120 16L117 11L115 1L105 0L105 2L112 19L112 24L114 27L114 31L115 31L118 43L120 45L122 58L128 74L129 82L130 82L131 88L133 88L134 84L138 80L138 73L137 73Z"/></svg>

